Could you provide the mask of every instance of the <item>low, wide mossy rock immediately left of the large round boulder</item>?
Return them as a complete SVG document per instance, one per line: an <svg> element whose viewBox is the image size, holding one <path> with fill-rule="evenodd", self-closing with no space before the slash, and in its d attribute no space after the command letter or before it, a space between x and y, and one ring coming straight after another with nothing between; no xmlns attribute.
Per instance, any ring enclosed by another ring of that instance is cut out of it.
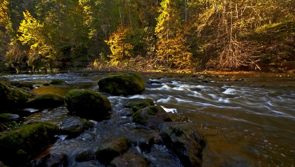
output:
<svg viewBox="0 0 295 167"><path fill-rule="evenodd" d="M64 105L64 101L63 96L47 93L28 100L25 105L27 108L55 108Z"/></svg>

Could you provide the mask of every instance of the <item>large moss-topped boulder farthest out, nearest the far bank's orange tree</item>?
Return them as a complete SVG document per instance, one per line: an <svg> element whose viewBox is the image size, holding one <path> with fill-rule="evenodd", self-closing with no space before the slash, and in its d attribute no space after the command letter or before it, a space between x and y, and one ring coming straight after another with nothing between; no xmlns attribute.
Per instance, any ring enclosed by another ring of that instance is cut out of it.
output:
<svg viewBox="0 0 295 167"><path fill-rule="evenodd" d="M141 76L135 72L112 75L98 81L100 91L112 95L135 95L145 90L145 83Z"/></svg>

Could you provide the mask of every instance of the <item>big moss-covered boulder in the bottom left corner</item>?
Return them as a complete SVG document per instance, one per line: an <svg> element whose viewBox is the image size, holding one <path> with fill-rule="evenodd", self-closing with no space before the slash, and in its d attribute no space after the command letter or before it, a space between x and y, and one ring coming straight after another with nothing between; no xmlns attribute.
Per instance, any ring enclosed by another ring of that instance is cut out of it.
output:
<svg viewBox="0 0 295 167"><path fill-rule="evenodd" d="M8 166L19 166L46 148L58 127L50 123L28 123L0 136L0 161Z"/></svg>

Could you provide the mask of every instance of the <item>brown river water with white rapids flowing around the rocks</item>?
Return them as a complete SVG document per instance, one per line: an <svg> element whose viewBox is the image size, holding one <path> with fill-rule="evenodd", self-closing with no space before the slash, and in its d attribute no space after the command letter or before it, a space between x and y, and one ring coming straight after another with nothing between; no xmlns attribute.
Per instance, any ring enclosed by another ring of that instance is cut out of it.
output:
<svg viewBox="0 0 295 167"><path fill-rule="evenodd" d="M110 74L15 74L7 77L35 82L33 91L38 94L64 96L73 88L98 91L97 81L106 75ZM295 74L231 74L230 77L245 80L209 77L205 79L209 83L185 74L140 75L146 83L142 94L123 97L102 93L112 103L112 118L98 123L93 121L96 124L93 130L86 131L79 139L58 140L47 151L66 153L68 166L83 166L75 162L76 154L87 149L95 151L109 136L123 135L133 143L138 143L140 136L146 133L157 136L155 130L130 123L123 125L129 118L118 114L122 99L150 98L155 105L161 105L173 121L197 124L207 139L203 167L295 166ZM67 83L43 86L53 79ZM39 120L58 125L65 117L67 110L61 106L24 117L22 123ZM94 136L94 140L85 140L85 136ZM136 145L131 149L140 152ZM150 153L140 153L152 162L151 166L181 166L178 158L162 145L154 145Z"/></svg>

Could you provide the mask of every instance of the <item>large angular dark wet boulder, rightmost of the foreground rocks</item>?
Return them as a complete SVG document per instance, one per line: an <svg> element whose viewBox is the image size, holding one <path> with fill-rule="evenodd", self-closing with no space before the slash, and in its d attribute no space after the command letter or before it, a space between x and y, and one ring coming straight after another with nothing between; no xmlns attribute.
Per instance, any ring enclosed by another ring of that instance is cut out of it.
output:
<svg viewBox="0 0 295 167"><path fill-rule="evenodd" d="M159 125L161 140L179 158L184 167L202 165L205 138L194 123L165 122Z"/></svg>

